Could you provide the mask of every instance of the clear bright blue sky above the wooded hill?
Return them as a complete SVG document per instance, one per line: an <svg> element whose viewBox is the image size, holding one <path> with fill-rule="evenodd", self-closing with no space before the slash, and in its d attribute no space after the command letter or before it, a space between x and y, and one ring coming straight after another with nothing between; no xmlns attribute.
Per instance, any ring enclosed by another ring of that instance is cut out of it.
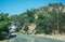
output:
<svg viewBox="0 0 65 42"><path fill-rule="evenodd" d="M26 10L47 6L49 3L63 3L65 0L0 0L0 13L21 14Z"/></svg>

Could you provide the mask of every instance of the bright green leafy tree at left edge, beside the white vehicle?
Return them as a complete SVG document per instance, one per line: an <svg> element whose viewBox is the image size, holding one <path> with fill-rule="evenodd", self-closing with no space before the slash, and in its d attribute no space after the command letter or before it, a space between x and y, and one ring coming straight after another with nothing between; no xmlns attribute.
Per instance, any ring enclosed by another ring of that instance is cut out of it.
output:
<svg viewBox="0 0 65 42"><path fill-rule="evenodd" d="M0 13L0 38L3 38L4 36L8 36L10 25L10 18L9 14L6 13Z"/></svg>

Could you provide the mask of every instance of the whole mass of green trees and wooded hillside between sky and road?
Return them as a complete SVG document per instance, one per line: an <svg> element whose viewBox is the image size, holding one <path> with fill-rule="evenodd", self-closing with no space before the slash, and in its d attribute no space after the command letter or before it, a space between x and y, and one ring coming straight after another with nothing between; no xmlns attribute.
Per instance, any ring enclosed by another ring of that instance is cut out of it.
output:
<svg viewBox="0 0 65 42"><path fill-rule="evenodd" d="M17 28L28 30L28 26L34 23L37 25L36 33L65 33L65 5L62 3L50 3L48 6L27 10L17 15L9 16L8 13L0 13L0 38L8 36L8 26L11 22L17 24ZM20 30L18 29L18 30Z"/></svg>

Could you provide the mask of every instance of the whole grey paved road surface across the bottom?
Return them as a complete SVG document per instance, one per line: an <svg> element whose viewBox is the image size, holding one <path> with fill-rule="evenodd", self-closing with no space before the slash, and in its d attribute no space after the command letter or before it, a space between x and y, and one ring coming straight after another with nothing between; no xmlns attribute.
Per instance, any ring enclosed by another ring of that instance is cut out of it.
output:
<svg viewBox="0 0 65 42"><path fill-rule="evenodd" d="M65 42L65 40L37 37L37 36L27 36L18 32L16 38L10 39L9 42Z"/></svg>

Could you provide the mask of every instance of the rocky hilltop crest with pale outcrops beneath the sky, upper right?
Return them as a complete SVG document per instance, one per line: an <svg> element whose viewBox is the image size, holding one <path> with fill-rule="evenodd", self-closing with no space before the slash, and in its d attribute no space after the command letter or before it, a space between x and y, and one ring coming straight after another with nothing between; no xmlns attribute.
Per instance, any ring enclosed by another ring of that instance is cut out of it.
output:
<svg viewBox="0 0 65 42"><path fill-rule="evenodd" d="M65 5L62 3L49 3L48 6L40 8L43 11L52 11L53 9L58 9L62 12L65 12Z"/></svg>

